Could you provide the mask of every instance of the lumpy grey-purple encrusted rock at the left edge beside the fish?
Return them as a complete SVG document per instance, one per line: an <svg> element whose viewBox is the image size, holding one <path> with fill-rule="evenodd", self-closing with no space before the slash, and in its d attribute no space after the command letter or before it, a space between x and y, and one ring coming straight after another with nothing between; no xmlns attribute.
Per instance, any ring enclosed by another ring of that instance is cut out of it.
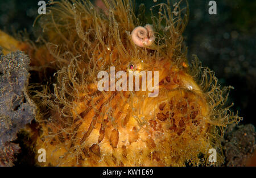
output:
<svg viewBox="0 0 256 178"><path fill-rule="evenodd" d="M0 49L0 166L12 166L18 131L35 117L36 106L27 94L28 64L23 52L2 55Z"/></svg>

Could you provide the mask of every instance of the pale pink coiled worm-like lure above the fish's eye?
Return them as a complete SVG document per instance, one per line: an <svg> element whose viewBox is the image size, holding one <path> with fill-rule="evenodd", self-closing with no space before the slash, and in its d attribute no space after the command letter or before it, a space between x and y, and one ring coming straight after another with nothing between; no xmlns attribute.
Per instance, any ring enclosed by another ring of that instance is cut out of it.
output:
<svg viewBox="0 0 256 178"><path fill-rule="evenodd" d="M139 47L150 46L155 41L154 31L150 24L138 26L131 32L131 39Z"/></svg>

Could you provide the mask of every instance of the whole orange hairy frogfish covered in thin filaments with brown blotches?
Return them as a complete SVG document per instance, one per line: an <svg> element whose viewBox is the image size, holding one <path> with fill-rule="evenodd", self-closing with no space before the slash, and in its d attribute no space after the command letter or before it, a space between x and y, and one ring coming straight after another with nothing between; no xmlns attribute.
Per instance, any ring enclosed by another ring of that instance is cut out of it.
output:
<svg viewBox="0 0 256 178"><path fill-rule="evenodd" d="M209 149L221 150L223 128L240 117L224 106L230 88L220 89L214 73L197 60L188 64L181 45L188 11L175 18L172 5L155 6L160 7L159 17L152 18L155 43L138 47L130 34L144 24L131 2L104 3L108 13L87 1L49 3L50 13L37 22L44 45L25 50L39 71L42 66L57 71L40 91L31 89L39 110L38 131L28 130L36 135L31 147L46 150L46 163L37 164L209 165ZM158 96L97 89L98 72L115 67L128 77L130 64L134 71L159 72ZM221 151L217 159L214 165L221 164Z"/></svg>

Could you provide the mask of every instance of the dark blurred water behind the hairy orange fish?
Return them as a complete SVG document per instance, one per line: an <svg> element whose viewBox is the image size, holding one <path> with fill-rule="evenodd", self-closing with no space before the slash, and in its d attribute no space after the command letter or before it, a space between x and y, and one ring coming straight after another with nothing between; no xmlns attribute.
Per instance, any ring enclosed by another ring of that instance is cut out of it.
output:
<svg viewBox="0 0 256 178"><path fill-rule="evenodd" d="M196 54L204 67L216 73L222 86L234 86L229 96L229 103L235 104L232 110L239 111L242 123L256 125L256 1L218 0L217 15L208 13L208 0L188 2L190 16L184 32L188 59ZM156 4L136 1L136 5L140 3L146 6L145 15L150 15L150 7ZM35 0L0 0L0 29L9 34L26 29L32 34L38 7Z"/></svg>

